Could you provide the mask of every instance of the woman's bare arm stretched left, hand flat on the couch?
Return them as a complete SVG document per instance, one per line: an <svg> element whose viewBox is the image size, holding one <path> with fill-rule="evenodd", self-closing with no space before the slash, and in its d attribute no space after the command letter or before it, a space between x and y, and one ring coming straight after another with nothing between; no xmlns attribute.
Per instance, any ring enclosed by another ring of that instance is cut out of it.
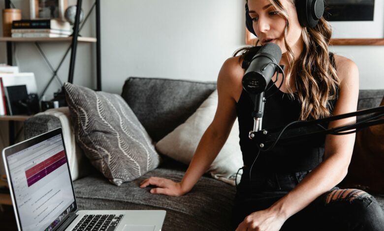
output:
<svg viewBox="0 0 384 231"><path fill-rule="evenodd" d="M239 76L244 74L241 72L242 70L238 58L229 58L224 62L217 81L218 107L216 114L204 132L182 181L179 183L160 177L150 177L141 183L141 188L155 185L158 188L152 189L151 193L169 196L181 196L192 189L215 160L231 131L236 119L233 87L238 86Z"/></svg>

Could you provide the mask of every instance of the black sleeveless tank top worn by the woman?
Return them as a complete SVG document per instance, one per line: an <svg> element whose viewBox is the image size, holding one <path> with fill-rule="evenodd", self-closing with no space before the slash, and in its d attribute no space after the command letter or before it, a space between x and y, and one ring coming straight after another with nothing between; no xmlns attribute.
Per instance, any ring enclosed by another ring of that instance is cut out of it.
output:
<svg viewBox="0 0 384 231"><path fill-rule="evenodd" d="M253 56L252 56L253 57ZM247 58L247 57L245 57ZM335 66L333 54L330 53L332 64ZM288 123L299 120L301 105L297 97L292 99L272 83L267 86L270 90L265 92L267 98L264 106L262 129L284 127ZM273 92L277 93L273 94ZM336 92L337 94L337 92ZM269 97L271 95L271 97ZM330 110L336 100L330 101ZM245 171L253 164L258 148L255 141L249 139L249 131L253 129L252 117L253 102L243 89L236 104L236 112L239 122L240 148L243 154ZM327 124L324 124L327 126ZM305 132L305 131L304 131ZM273 149L260 152L252 168L252 173L295 173L314 169L322 161L324 154L325 135L311 140L295 144L277 144ZM243 174L244 175L244 174Z"/></svg>

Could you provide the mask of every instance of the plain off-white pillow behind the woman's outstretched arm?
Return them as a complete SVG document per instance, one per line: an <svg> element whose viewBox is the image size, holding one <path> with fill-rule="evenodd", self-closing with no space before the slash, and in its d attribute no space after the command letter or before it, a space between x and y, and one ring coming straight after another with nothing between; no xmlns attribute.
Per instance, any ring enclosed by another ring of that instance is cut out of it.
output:
<svg viewBox="0 0 384 231"><path fill-rule="evenodd" d="M172 159L189 164L201 137L215 116L217 104L218 93L215 90L185 123L162 138L156 144L156 149ZM235 185L236 173L241 167L243 159L239 145L239 124L236 119L227 141L207 172L215 179ZM240 181L241 173L242 171L237 175L237 182Z"/></svg>

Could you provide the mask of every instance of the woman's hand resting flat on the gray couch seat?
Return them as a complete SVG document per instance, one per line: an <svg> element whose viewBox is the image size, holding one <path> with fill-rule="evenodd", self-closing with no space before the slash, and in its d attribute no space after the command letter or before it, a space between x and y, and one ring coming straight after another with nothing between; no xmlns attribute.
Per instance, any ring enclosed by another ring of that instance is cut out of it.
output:
<svg viewBox="0 0 384 231"><path fill-rule="evenodd" d="M140 184L140 188L145 188L149 185L158 187L151 189L150 192L152 194L164 194L168 196L179 197L187 193L182 189L180 182L175 182L166 178L152 176L143 180L143 182Z"/></svg>

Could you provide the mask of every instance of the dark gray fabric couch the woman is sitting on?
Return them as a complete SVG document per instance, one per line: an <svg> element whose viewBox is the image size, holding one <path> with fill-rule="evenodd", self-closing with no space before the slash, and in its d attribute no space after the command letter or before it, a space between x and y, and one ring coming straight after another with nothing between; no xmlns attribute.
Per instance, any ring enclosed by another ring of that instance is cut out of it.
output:
<svg viewBox="0 0 384 231"><path fill-rule="evenodd" d="M182 124L216 89L216 83L128 78L122 96L151 138L157 142ZM384 90L360 90L358 109L379 105ZM25 121L25 138L60 127L52 115L37 115ZM230 230L235 187L204 175L192 191L182 197L152 195L139 183L150 176L180 181L187 166L162 156L159 168L117 187L93 169L74 181L80 209L164 209L163 230ZM384 195L375 195L384 209Z"/></svg>

